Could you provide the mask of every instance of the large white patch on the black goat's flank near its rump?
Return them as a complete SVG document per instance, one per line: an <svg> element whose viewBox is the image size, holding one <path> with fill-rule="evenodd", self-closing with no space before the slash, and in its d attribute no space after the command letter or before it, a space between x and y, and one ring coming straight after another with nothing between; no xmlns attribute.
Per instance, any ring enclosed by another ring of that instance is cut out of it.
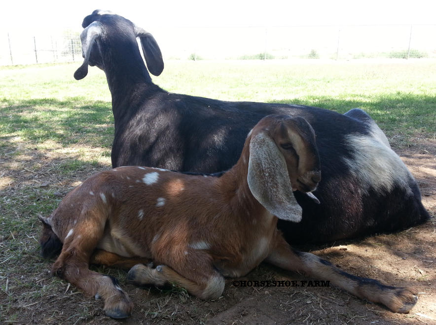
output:
<svg viewBox="0 0 436 325"><path fill-rule="evenodd" d="M354 159L344 158L351 172L360 180L367 193L370 187L376 191L391 191L395 185L412 194L408 182L413 180L400 157L383 141L366 135L349 135L348 147Z"/></svg>

